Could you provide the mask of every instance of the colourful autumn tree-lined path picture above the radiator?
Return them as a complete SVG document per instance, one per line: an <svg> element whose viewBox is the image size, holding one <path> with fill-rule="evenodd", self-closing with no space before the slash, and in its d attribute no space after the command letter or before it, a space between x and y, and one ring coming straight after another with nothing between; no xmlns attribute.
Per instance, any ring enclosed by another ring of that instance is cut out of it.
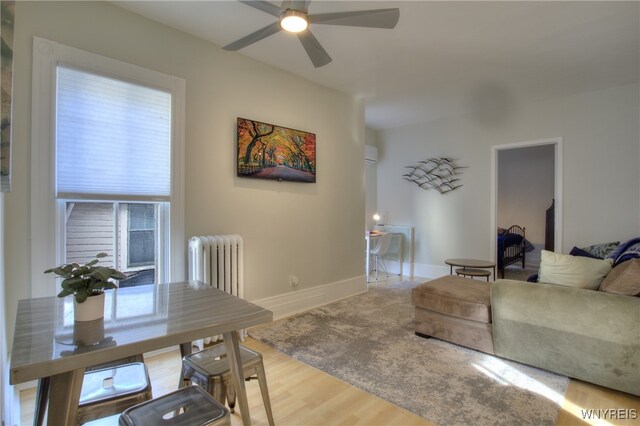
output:
<svg viewBox="0 0 640 426"><path fill-rule="evenodd" d="M238 176L316 181L316 135L238 118Z"/></svg>

